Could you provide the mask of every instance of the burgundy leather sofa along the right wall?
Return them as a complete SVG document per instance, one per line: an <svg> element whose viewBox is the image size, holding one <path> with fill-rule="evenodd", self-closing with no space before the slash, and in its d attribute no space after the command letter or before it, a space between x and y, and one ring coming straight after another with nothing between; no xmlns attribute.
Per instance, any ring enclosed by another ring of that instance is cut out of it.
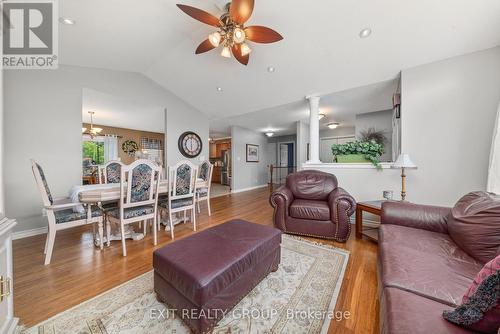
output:
<svg viewBox="0 0 500 334"><path fill-rule="evenodd" d="M378 243L381 333L472 333L446 321L442 313L461 304L485 260L500 252L500 205L492 205L491 199L492 194L476 192L454 208L383 204ZM476 249L459 246L470 241Z"/></svg>

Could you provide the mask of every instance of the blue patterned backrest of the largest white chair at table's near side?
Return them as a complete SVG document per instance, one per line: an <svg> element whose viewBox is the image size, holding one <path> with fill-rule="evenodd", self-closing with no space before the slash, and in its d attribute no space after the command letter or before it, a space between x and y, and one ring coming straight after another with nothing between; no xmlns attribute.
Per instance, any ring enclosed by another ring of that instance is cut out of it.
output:
<svg viewBox="0 0 500 334"><path fill-rule="evenodd" d="M160 167L149 160L136 160L123 165L120 173L120 217L127 208L154 205L158 202ZM126 192L126 194L124 194Z"/></svg>

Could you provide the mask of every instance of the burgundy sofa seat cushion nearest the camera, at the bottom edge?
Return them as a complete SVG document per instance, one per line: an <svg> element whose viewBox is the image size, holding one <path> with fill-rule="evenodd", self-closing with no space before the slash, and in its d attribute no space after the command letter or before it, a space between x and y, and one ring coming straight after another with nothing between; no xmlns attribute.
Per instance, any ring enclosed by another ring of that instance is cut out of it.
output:
<svg viewBox="0 0 500 334"><path fill-rule="evenodd" d="M411 292L385 288L382 294L381 333L386 334L466 334L470 331L441 316L449 306Z"/></svg>

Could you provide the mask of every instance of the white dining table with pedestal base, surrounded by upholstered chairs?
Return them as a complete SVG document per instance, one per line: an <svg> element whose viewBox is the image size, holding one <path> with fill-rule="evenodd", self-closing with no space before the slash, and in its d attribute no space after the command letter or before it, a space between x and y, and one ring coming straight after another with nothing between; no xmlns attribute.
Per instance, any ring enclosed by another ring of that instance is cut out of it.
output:
<svg viewBox="0 0 500 334"><path fill-rule="evenodd" d="M122 193L120 191L120 183L116 184L91 184L91 185L78 185L78 186L73 186L73 188L70 190L70 199L73 202L80 202L82 204L88 204L88 205L98 205L99 203L106 203L106 202L118 202L120 201L120 194ZM197 178L196 179L196 188L199 187L206 187L207 186L207 181ZM126 187L126 185L124 185ZM163 179L160 180L160 184L158 185L158 193L161 194L168 194L168 180ZM126 193L126 188L123 191L123 194ZM82 207L83 208L83 207ZM78 208L77 208L78 210ZM183 218L180 218L178 216L174 217L173 224L177 225L184 222ZM168 230L169 224L165 224L166 229ZM125 226L125 238L126 239L132 239L132 240L141 240L144 238L144 234L140 232L135 232L133 227L130 225ZM101 240L98 240L99 237L95 236L95 245L100 246ZM121 233L120 233L120 226L111 226L111 235L110 235L110 241L114 240L121 240ZM102 242L107 242L106 236L104 236L104 240Z"/></svg>

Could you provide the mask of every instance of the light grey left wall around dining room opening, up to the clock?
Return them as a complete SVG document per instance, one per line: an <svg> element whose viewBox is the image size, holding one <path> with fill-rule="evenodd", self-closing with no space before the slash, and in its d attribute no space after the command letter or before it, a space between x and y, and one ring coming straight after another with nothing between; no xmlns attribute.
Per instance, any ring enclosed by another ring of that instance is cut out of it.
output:
<svg viewBox="0 0 500 334"><path fill-rule="evenodd" d="M60 66L58 70L5 73L6 213L17 218L17 231L46 226L29 159L43 167L55 197L67 196L81 183L82 92L94 89L164 106L167 109L167 164L182 159L178 136L197 132L208 156L208 119L142 74Z"/></svg>

